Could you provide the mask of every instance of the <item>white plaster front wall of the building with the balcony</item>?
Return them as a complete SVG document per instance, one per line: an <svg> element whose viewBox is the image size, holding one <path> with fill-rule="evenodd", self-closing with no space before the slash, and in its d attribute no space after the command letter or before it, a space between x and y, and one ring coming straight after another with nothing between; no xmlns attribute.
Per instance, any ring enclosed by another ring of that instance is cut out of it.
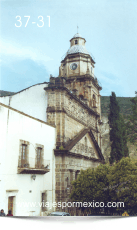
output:
<svg viewBox="0 0 137 230"><path fill-rule="evenodd" d="M50 205L55 201L55 128L0 105L0 138L0 208L7 214L8 196L13 195L14 215L41 215L41 193L47 190ZM35 144L44 145L44 159L50 160L50 172L36 174L35 181L31 174L17 174L20 139L30 142L32 158L36 155Z"/></svg>

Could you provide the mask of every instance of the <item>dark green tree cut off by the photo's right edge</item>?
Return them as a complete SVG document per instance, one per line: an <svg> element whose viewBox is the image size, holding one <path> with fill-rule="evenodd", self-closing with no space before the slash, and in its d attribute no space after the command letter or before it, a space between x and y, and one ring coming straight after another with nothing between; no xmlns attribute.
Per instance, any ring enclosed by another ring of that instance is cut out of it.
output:
<svg viewBox="0 0 137 230"><path fill-rule="evenodd" d="M128 122L126 123L128 140L132 144L137 144L137 95L131 99L132 106L131 115L128 116Z"/></svg>

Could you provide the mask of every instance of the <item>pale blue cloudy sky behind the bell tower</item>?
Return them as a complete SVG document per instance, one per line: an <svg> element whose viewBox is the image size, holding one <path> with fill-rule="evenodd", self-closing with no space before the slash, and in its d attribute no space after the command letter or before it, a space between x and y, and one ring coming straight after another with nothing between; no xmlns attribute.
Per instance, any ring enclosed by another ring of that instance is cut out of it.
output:
<svg viewBox="0 0 137 230"><path fill-rule="evenodd" d="M49 81L50 74L57 77L61 57L69 49L78 25L79 33L86 39L86 49L95 57L94 73L103 88L101 95L110 96L112 91L120 97L135 95L136 0L0 3L1 90L17 92Z"/></svg>

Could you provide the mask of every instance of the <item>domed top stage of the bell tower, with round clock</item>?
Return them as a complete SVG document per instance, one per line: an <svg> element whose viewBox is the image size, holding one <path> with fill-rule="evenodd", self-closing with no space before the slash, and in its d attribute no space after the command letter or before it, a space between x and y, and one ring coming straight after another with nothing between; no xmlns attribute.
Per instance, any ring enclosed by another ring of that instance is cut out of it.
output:
<svg viewBox="0 0 137 230"><path fill-rule="evenodd" d="M64 55L59 68L60 77L93 74L94 58L85 47L86 40L79 33L70 39L70 48Z"/></svg>

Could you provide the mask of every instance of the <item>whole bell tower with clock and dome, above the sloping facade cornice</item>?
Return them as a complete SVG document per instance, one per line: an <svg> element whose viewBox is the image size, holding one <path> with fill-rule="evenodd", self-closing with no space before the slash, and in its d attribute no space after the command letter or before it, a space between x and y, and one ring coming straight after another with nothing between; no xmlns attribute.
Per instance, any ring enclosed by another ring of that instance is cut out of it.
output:
<svg viewBox="0 0 137 230"><path fill-rule="evenodd" d="M66 80L65 86L92 108L101 114L99 86L94 75L95 60L86 50L86 40L79 33L70 39L70 48L61 61L59 77Z"/></svg>

